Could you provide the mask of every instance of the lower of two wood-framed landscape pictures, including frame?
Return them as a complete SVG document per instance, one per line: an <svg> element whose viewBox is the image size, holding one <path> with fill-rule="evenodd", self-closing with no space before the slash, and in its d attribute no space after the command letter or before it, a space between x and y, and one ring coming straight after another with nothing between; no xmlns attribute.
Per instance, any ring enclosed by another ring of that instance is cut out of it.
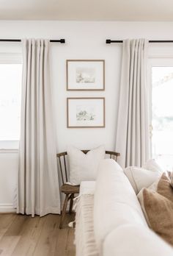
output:
<svg viewBox="0 0 173 256"><path fill-rule="evenodd" d="M67 127L105 127L105 98L67 98Z"/></svg>

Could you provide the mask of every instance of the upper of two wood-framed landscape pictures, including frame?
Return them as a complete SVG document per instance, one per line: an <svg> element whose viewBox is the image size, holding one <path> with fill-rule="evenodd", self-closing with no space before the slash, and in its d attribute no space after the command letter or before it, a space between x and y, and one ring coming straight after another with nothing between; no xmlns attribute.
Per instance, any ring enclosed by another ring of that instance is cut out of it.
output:
<svg viewBox="0 0 173 256"><path fill-rule="evenodd" d="M67 90L105 90L104 60L67 60Z"/></svg>

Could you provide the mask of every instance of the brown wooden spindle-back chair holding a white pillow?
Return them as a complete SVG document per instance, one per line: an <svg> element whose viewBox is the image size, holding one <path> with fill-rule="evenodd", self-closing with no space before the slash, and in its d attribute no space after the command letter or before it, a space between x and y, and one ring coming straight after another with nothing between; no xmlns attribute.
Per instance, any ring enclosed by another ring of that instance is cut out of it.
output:
<svg viewBox="0 0 173 256"><path fill-rule="evenodd" d="M87 154L89 150L81 150L84 154ZM106 151L106 154L109 155L109 158L114 159L117 161L117 157L119 157L119 153L117 152L111 152L111 151ZM68 182L68 170L67 170L67 152L62 152L59 154L56 154L56 157L58 158L58 163L59 163L59 169L60 169L60 174L62 177L62 186L60 188L62 193L65 193L65 202L62 208L62 215L60 219L60 224L59 228L62 229L63 222L65 220L65 213L67 209L67 202L70 200L70 208L69 208L69 213L72 213L72 208L73 208L73 199L75 197L76 193L79 193L79 188L80 185L68 185L65 184Z"/></svg>

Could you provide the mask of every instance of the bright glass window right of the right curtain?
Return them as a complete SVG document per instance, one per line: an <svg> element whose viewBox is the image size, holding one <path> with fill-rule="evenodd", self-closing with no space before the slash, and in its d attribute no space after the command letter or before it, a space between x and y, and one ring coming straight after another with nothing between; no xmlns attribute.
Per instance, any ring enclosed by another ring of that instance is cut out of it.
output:
<svg viewBox="0 0 173 256"><path fill-rule="evenodd" d="M152 60L152 157L173 168L173 60Z"/></svg>

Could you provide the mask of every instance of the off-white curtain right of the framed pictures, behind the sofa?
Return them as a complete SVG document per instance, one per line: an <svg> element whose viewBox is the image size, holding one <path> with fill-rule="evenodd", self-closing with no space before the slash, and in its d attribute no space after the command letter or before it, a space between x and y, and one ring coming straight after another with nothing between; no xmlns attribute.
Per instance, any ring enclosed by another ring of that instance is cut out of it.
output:
<svg viewBox="0 0 173 256"><path fill-rule="evenodd" d="M142 166L150 155L147 40L124 40L116 150L119 164Z"/></svg>

